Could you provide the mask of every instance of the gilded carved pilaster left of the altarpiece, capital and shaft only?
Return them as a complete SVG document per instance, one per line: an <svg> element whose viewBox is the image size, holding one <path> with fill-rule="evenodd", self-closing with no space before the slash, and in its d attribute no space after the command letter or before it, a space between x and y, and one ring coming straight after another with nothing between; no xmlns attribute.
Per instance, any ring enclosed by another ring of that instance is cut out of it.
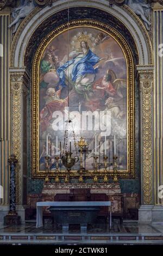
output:
<svg viewBox="0 0 163 256"><path fill-rule="evenodd" d="M12 153L16 156L16 204L22 203L22 168L23 168L23 99L27 96L29 76L26 71L10 72L10 87L12 98Z"/></svg>

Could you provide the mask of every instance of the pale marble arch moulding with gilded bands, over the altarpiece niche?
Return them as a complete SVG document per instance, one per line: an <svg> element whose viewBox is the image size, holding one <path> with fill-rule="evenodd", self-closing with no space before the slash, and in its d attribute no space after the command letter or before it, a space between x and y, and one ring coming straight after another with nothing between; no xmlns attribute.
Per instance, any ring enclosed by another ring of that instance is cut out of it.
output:
<svg viewBox="0 0 163 256"><path fill-rule="evenodd" d="M67 2L64 0L58 0L53 3L52 7L43 9L35 8L34 11L23 20L12 42L10 66L15 68L22 68L24 66L24 56L26 56L28 42L43 21L50 19L52 15L67 9L67 7L73 8L74 6L87 8L92 8L93 6L93 8L97 8L115 17L117 21L126 27L134 39L136 51L139 56L139 62L136 64L153 64L152 45L145 26L127 5L123 7L112 5L112 7L109 7L108 1L105 0L100 2L97 0L70 0L67 5ZM109 22L110 21L108 21L108 23Z"/></svg>

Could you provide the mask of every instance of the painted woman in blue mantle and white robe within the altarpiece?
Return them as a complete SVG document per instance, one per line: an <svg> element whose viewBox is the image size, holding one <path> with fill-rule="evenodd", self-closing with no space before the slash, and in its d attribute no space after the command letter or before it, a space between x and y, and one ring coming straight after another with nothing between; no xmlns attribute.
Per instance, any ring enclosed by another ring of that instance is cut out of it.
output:
<svg viewBox="0 0 163 256"><path fill-rule="evenodd" d="M70 53L71 60L57 69L60 77L61 87L66 87L68 83L74 86L79 94L86 96L87 92L92 89L98 68L94 66L101 60L93 53L86 40L80 41L81 51L72 51Z"/></svg>

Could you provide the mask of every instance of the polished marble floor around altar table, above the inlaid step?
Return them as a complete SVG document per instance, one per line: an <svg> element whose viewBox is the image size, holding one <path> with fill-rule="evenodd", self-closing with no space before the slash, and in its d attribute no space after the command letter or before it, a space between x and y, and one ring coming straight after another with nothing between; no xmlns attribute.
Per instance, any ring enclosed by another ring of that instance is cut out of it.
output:
<svg viewBox="0 0 163 256"><path fill-rule="evenodd" d="M62 233L62 227L59 225L57 228L54 224L46 223L43 227L36 228L35 223L26 223L22 225L4 226L0 225L0 234L2 233ZM70 225L69 233L80 233L79 225ZM150 224L137 224L135 223L123 223L114 222L111 229L106 227L105 224L93 224L88 225L87 233L99 233L99 234L114 234L114 233L129 233L129 234L162 234L163 225L150 225Z"/></svg>

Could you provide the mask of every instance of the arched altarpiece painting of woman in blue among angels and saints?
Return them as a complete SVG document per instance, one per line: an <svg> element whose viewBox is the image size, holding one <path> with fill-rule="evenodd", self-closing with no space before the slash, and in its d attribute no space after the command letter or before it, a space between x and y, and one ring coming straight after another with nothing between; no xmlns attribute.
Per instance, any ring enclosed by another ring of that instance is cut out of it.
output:
<svg viewBox="0 0 163 256"><path fill-rule="evenodd" d="M62 154L68 118L72 123L68 124L67 147L74 155L78 154L74 139L77 141L81 136L86 139L87 147L83 155L86 170L94 168L95 150L99 157L99 171L104 168L106 136L108 172L112 173L115 136L118 173L120 176L134 176L133 170L130 175L130 153L133 148L129 150L130 142L133 142L130 127L134 122L133 115L129 113L130 106L133 107L133 92L130 89L133 85L128 78L131 68L120 42L111 33L97 27L74 26L55 34L45 44L34 64L32 111L37 112L33 114L37 136L33 129L33 139L34 142L37 139L37 142L33 144L33 157L36 158L33 160L36 163L33 176L43 176L45 173L46 153L51 156L52 176L55 173L55 155ZM65 170L61 161L59 169L60 172ZM74 165L72 171L78 169L79 163Z"/></svg>

